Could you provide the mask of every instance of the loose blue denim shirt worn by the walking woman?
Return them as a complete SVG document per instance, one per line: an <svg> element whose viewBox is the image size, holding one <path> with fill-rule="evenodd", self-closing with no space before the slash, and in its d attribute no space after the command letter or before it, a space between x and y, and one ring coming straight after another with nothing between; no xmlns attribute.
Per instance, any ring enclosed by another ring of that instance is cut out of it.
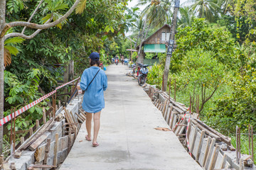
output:
<svg viewBox="0 0 256 170"><path fill-rule="evenodd" d="M90 67L85 69L82 73L80 88L85 91L87 86L92 81L93 77L99 70L99 67ZM107 89L107 76L105 72L100 69L95 79L92 81L88 89L85 91L82 101L82 108L87 113L97 113L105 108L103 91Z"/></svg>

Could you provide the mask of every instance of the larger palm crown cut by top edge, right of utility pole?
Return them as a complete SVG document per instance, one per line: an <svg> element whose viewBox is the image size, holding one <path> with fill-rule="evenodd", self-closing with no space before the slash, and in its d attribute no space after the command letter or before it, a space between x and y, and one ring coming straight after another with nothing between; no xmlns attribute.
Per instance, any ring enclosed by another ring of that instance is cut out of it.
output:
<svg viewBox="0 0 256 170"><path fill-rule="evenodd" d="M191 9L194 13L198 13L199 18L206 18L213 22L214 18L218 16L219 4L219 0L196 0Z"/></svg>

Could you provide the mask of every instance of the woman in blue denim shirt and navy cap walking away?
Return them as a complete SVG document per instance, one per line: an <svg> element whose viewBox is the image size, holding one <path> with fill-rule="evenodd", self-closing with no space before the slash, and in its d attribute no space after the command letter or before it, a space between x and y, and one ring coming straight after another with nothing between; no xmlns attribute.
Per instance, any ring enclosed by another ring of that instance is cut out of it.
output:
<svg viewBox="0 0 256 170"><path fill-rule="evenodd" d="M107 89L107 76L100 66L100 55L97 52L90 54L90 66L82 73L78 90L85 91L82 101L82 108L86 112L87 141L92 140L92 147L99 146L97 135L100 130L100 113L105 108L103 91ZM92 116L93 115L93 116ZM92 118L94 123L93 139L91 137Z"/></svg>

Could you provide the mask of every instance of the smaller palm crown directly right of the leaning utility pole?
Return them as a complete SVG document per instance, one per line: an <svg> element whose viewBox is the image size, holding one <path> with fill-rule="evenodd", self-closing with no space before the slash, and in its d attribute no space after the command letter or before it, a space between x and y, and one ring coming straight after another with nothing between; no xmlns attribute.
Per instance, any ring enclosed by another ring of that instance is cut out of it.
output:
<svg viewBox="0 0 256 170"><path fill-rule="evenodd" d="M178 27L191 26L193 18L195 18L193 11L188 6L179 8L181 17L178 18Z"/></svg>

